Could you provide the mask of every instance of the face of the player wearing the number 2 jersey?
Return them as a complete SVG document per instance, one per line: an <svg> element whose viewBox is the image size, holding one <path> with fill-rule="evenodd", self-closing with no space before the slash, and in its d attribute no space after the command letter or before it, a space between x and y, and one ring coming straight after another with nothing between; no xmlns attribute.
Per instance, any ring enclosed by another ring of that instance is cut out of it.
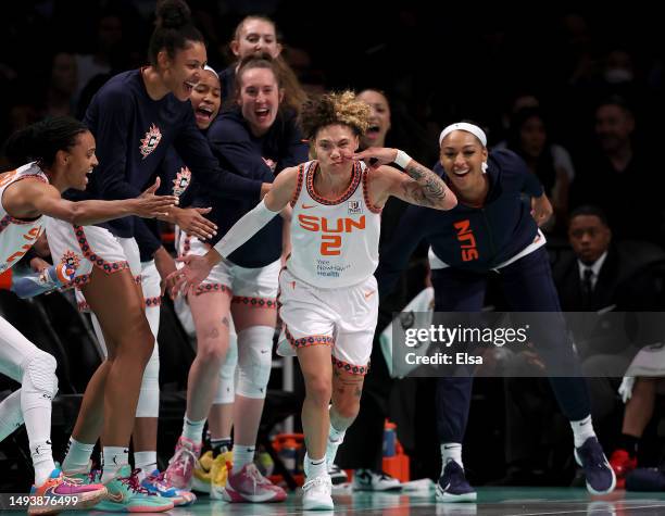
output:
<svg viewBox="0 0 665 516"><path fill-rule="evenodd" d="M347 125L334 124L322 127L314 138L314 151L322 169L329 174L351 171L351 158L360 139Z"/></svg>

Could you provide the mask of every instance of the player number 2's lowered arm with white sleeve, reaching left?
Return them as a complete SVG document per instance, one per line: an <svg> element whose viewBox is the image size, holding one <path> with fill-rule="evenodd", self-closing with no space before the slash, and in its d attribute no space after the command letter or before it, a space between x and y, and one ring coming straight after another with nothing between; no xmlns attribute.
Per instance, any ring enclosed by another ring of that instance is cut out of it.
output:
<svg viewBox="0 0 665 516"><path fill-rule="evenodd" d="M236 249L252 238L263 226L286 207L296 189L298 168L285 168L273 183L273 188L265 198L250 212L246 213L226 235L203 256L189 254L178 259L185 267L171 274L167 286L171 294L178 291L193 291L203 281L211 269L222 257L228 256Z"/></svg>

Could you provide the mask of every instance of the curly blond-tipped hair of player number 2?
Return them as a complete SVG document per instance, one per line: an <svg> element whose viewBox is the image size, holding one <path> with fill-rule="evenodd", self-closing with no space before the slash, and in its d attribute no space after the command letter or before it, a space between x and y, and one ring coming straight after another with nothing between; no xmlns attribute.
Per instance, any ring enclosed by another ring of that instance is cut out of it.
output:
<svg viewBox="0 0 665 516"><path fill-rule="evenodd" d="M304 103L301 111L301 125L304 137L314 140L322 127L346 125L356 136L363 135L369 125L369 106L355 98L350 90L325 93Z"/></svg>

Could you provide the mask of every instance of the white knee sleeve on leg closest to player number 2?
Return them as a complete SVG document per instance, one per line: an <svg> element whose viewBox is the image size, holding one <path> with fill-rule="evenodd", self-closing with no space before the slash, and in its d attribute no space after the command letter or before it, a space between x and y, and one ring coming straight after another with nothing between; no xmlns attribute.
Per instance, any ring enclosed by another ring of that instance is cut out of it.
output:
<svg viewBox="0 0 665 516"><path fill-rule="evenodd" d="M238 333L238 394L265 398L273 365L274 333L271 326L252 326Z"/></svg>

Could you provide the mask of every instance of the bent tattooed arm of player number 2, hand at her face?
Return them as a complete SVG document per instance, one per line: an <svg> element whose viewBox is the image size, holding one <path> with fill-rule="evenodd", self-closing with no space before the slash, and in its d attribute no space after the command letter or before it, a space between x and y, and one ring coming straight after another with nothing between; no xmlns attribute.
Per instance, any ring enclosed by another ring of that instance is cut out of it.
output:
<svg viewBox="0 0 665 516"><path fill-rule="evenodd" d="M399 149L369 148L355 154L353 159L365 161L371 168L378 172L373 174L372 180L376 184L373 193L379 206L390 196L435 210L450 210L457 205L455 194L439 176ZM404 168L404 174L391 166L385 166L387 163L397 163Z"/></svg>

